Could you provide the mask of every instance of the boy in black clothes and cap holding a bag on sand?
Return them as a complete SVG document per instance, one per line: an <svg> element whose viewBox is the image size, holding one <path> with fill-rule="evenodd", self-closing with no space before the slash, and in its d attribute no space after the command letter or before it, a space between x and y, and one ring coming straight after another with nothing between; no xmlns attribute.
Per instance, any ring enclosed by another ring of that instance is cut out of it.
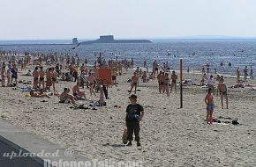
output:
<svg viewBox="0 0 256 167"><path fill-rule="evenodd" d="M126 107L125 122L127 127L127 140L129 141L127 146L132 146L132 134L135 134L135 141L137 146L141 146L139 141L139 121L144 117L144 109L142 105L137 103L137 96L131 95L129 97L131 104Z"/></svg>

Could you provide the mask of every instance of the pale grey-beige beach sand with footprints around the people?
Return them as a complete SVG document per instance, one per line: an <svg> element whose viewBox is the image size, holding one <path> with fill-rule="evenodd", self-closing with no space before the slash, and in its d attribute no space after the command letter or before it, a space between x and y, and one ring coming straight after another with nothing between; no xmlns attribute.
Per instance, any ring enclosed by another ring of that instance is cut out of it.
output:
<svg viewBox="0 0 256 167"><path fill-rule="evenodd" d="M161 167L256 166L256 91L248 88L228 90L230 109L222 110L220 96L215 97L214 117L222 121L238 119L240 125L207 125L206 89L196 85L184 88L184 107L180 109L179 91L167 98L159 94L156 80L140 83L138 102L146 113L140 122L142 147L138 148L136 142L132 147L124 146L125 108L130 103L127 79L131 76L129 71L117 77L118 86L109 88L107 106L98 110L73 110L72 105L59 104L56 97L41 102L42 98L26 98L28 92L0 87L1 119L91 159L137 161L143 166ZM184 78L195 78L196 84L200 84L200 77L184 74ZM32 76L19 79L33 80ZM59 92L75 84L60 83L56 84ZM226 83L235 84L235 78L227 78ZM249 83L255 84L256 80ZM99 99L99 94L90 97L88 90L86 93L91 100Z"/></svg>

